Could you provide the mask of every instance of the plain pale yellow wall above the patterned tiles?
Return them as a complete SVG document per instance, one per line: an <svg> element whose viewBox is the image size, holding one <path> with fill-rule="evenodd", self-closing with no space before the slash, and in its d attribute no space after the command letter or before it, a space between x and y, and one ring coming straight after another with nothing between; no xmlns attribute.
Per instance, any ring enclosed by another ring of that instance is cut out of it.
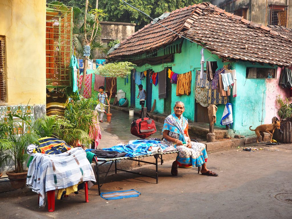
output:
<svg viewBox="0 0 292 219"><path fill-rule="evenodd" d="M0 35L6 36L4 105L45 105L46 1L1 0Z"/></svg>

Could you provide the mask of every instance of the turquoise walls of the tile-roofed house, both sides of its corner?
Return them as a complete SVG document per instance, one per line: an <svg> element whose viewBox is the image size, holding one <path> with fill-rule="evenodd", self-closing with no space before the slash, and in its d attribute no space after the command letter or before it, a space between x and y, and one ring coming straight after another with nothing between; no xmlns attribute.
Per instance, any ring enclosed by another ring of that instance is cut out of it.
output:
<svg viewBox="0 0 292 219"><path fill-rule="evenodd" d="M180 40L179 40L180 42ZM175 42L174 44L177 44ZM178 100L185 103L185 112L184 116L189 119L189 121L194 121L195 117L195 95L194 95L194 84L195 84L195 71L201 69L200 60L201 60L201 46L192 44L189 41L184 41L182 46L182 53L175 53L174 62L164 63L159 65L143 65L140 67L135 67L138 72L145 71L146 69L152 69L154 72L160 72L165 67L172 67L172 71L178 74L183 74L192 70L192 87L190 95L176 96L176 84L172 85L172 97L171 102L172 106ZM142 56L144 56L143 54ZM163 50L158 51L157 56L164 55ZM222 68L223 65L227 65L228 62L222 62L222 60L216 56L212 55L204 50L205 60L208 61L218 61L218 68ZM210 58L211 57L211 58ZM267 67L271 68L269 65L252 65L250 62L235 62L231 65L236 69L237 72L237 97L233 98L232 89L229 102L232 104L233 112L233 121L231 128L238 134L241 135L252 135L254 132L251 132L248 127L253 126L254 128L259 124L263 124L265 119L265 100L266 100L266 79L246 79L246 67ZM204 66L206 69L206 66ZM126 90L123 83L118 84L118 90ZM145 88L146 80L142 81L142 85ZM130 82L127 85L128 91L130 91ZM136 86L135 96L138 95L138 85ZM130 98L130 95L129 95ZM158 98L158 86L152 86L152 105L153 101L156 99L156 107L159 113L164 112L164 99ZM141 108L139 105L139 100L135 99L136 108ZM217 122L215 125L220 126L220 121L223 115L225 105L218 104L217 110ZM223 126L221 126L223 127ZM225 127L225 126L224 126Z"/></svg>

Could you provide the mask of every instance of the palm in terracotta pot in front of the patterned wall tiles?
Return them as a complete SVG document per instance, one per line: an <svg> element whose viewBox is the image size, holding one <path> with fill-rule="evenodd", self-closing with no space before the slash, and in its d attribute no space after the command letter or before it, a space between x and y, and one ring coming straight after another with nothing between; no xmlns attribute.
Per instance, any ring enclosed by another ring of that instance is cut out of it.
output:
<svg viewBox="0 0 292 219"><path fill-rule="evenodd" d="M8 115L8 131L6 133L12 146L9 151L14 161L15 168L6 172L11 186L15 189L25 186L27 171L24 169L28 154L26 153L29 144L37 142L38 135L32 131L27 117L19 115Z"/></svg>

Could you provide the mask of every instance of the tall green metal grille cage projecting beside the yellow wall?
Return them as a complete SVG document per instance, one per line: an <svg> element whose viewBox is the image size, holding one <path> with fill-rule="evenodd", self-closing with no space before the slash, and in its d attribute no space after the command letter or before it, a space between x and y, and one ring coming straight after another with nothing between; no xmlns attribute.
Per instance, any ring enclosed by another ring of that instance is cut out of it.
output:
<svg viewBox="0 0 292 219"><path fill-rule="evenodd" d="M71 86L72 7L47 4L46 8L46 86Z"/></svg>

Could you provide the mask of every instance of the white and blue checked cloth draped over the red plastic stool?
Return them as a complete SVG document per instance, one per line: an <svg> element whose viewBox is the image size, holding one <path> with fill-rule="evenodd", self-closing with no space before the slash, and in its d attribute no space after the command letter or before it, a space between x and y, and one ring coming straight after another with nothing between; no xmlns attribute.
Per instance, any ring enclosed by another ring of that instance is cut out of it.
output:
<svg viewBox="0 0 292 219"><path fill-rule="evenodd" d="M96 182L86 152L76 147L62 154L36 153L29 164L26 185L40 194L39 206L44 207L46 192L85 181Z"/></svg>

